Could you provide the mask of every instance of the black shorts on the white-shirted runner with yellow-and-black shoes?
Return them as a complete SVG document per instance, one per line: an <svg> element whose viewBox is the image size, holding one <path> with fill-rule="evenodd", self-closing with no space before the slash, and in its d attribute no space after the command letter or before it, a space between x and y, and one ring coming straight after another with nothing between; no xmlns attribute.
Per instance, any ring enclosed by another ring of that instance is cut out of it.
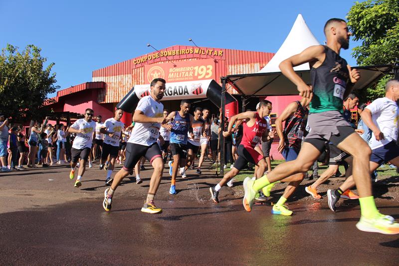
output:
<svg viewBox="0 0 399 266"><path fill-rule="evenodd" d="M123 164L123 170L127 172L132 171L143 156L146 157L150 163L153 163L154 159L158 157L162 158L158 143L155 142L151 146L144 146L128 142L126 144L126 161Z"/></svg>

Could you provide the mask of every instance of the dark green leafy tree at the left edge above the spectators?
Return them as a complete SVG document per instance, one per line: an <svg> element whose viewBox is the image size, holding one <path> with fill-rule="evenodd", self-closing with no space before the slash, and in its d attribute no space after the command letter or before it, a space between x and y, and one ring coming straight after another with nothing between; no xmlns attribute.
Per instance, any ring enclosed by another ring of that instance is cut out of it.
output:
<svg viewBox="0 0 399 266"><path fill-rule="evenodd" d="M46 58L40 55L41 49L27 45L22 51L7 44L0 55L0 112L15 121L42 118L47 112L45 102L48 93L53 93L55 73L51 73L54 63L44 68Z"/></svg>

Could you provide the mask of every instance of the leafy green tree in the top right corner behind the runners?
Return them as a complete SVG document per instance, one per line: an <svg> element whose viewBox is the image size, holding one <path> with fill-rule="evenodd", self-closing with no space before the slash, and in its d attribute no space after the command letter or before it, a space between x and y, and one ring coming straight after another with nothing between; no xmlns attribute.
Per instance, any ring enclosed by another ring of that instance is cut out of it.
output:
<svg viewBox="0 0 399 266"><path fill-rule="evenodd" d="M348 12L348 26L355 41L362 41L353 48L352 55L358 65L394 64L399 60L399 1L367 0L355 2ZM387 75L367 92L364 101L372 101L385 95L385 83L393 75Z"/></svg>

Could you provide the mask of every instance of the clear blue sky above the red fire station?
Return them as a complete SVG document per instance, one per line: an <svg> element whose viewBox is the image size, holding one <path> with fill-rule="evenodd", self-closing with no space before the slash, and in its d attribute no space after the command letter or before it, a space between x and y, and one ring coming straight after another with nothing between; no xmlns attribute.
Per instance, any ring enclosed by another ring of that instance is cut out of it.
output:
<svg viewBox="0 0 399 266"><path fill-rule="evenodd" d="M352 0L103 1L0 0L0 47L34 44L55 62L63 88L92 71L175 44L276 52L298 13L323 43L323 26L345 18ZM350 49L341 55L356 65ZM50 95L53 96L53 95Z"/></svg>

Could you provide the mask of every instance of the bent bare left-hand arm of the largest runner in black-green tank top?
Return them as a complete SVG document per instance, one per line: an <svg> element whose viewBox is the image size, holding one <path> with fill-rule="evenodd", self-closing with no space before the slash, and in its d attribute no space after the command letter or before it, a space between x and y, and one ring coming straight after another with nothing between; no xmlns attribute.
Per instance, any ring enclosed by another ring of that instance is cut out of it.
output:
<svg viewBox="0 0 399 266"><path fill-rule="evenodd" d="M291 80L299 91L299 95L305 98L312 99L313 90L312 87L307 85L303 79L294 71L294 66L301 65L304 63L316 64L322 63L326 55L324 47L322 45L310 46L303 50L301 53L293 55L279 64L281 72L289 80Z"/></svg>

